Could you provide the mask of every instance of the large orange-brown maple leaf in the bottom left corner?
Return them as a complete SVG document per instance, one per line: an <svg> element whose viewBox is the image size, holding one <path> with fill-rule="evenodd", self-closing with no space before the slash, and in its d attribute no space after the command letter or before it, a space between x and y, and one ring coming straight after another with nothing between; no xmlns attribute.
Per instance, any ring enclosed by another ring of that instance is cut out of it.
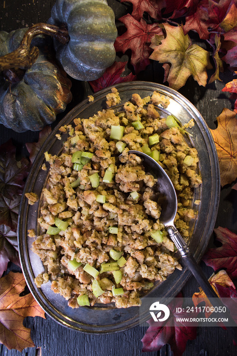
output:
<svg viewBox="0 0 237 356"><path fill-rule="evenodd" d="M31 293L19 295L26 286L22 273L9 272L0 281L0 342L18 351L35 347L31 329L23 326L23 320L26 316L44 318L44 311Z"/></svg>

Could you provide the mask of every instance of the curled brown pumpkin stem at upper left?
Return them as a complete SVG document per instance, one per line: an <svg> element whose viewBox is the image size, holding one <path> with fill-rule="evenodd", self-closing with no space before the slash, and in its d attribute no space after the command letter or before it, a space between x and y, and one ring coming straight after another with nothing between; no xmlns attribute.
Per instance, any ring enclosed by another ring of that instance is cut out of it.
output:
<svg viewBox="0 0 237 356"><path fill-rule="evenodd" d="M42 34L55 37L63 44L66 44L69 41L68 30L66 27L58 27L41 22L36 23L27 29L20 46L15 51L0 57L0 71L12 68L31 68L39 55L39 49L36 46L31 48L31 42L35 36Z"/></svg>

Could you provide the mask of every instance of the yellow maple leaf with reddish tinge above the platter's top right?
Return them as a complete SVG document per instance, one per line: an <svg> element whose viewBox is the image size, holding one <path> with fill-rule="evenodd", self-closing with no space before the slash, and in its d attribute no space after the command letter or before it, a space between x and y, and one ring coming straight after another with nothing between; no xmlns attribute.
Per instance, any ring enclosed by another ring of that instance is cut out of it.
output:
<svg viewBox="0 0 237 356"><path fill-rule="evenodd" d="M167 81L179 90L192 75L199 85L206 85L207 68L211 68L209 52L192 44L188 35L184 35L182 26L164 24L166 38L156 46L150 58L160 63L170 63Z"/></svg>

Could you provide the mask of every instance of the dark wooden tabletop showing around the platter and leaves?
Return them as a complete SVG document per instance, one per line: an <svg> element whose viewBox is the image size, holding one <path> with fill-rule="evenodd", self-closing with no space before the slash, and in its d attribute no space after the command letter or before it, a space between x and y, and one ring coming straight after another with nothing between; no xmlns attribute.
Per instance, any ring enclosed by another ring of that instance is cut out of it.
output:
<svg viewBox="0 0 237 356"><path fill-rule="evenodd" d="M54 0L0 0L0 29L10 32L20 27L28 27L37 22L45 22L50 17L50 10ZM113 8L115 17L118 19L128 11L128 3L121 4L119 0L109 0L108 4ZM159 76L159 68L153 63L137 77L139 80L154 81L162 83ZM209 127L216 128L216 117L222 109L231 108L229 94L222 93L221 89L225 83L232 80L233 74L226 71L222 74L223 82L216 81L206 87L199 86L189 79L180 93L189 99L200 111ZM73 101L68 105L66 112L75 106L82 98L79 93L81 85L73 82ZM59 115L57 120L60 120ZM38 140L37 132L16 133L0 125L0 144L13 139L17 147L24 151L24 143ZM231 190L230 186L221 189L219 212L216 227L227 227L237 233L237 191ZM211 241L212 244L212 241ZM204 273L211 276L213 270L207 268L201 262ZM10 269L16 270L13 265ZM194 278L190 278L183 288L184 296L191 297L198 291L198 285ZM42 355L42 356L139 356L139 355L172 355L169 345L165 345L161 351L142 352L141 339L146 328L136 327L126 332L111 335L86 335L67 329L57 324L50 317L29 317L24 321L26 327L32 330L32 339L36 348L24 349L21 353L16 350L8 350L0 344L0 353L4 356L10 355ZM184 356L227 356L236 355L237 347L233 345L230 335L219 327L199 328L197 338L188 341Z"/></svg>

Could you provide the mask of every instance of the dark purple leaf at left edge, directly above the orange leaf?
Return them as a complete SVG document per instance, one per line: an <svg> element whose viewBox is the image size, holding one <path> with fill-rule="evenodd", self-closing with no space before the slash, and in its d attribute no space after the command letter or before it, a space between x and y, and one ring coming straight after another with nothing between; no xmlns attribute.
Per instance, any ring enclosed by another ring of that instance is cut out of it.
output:
<svg viewBox="0 0 237 356"><path fill-rule="evenodd" d="M9 261L20 267L17 252L17 234L10 227L0 225L0 277L7 270Z"/></svg>

